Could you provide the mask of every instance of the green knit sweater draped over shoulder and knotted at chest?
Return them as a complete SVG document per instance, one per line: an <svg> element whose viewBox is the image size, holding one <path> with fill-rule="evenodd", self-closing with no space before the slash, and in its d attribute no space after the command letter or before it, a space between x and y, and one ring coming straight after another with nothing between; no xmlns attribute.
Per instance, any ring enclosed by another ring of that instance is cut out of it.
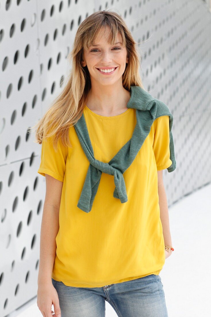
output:
<svg viewBox="0 0 211 317"><path fill-rule="evenodd" d="M114 175L115 190L113 196L120 199L121 203L127 202L127 191L123 173L133 163L133 160L151 130L154 120L160 116L168 115L170 118L170 159L172 164L167 170L168 172L172 172L176 169L174 141L171 132L173 116L169 108L164 102L152 97L150 93L139 86L131 86L130 91L131 97L127 103L127 108L136 109L136 126L132 138L119 150L119 152L116 153L109 163L104 163L95 159L84 114L82 114L81 118L74 125L80 144L90 162L84 186L77 204L79 209L87 213L92 209L102 172Z"/></svg>

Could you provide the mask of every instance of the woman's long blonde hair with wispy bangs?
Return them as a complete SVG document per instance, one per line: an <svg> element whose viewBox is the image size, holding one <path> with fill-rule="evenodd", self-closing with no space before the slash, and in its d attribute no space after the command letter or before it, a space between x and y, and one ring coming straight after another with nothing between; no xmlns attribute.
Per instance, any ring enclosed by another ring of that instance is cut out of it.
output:
<svg viewBox="0 0 211 317"><path fill-rule="evenodd" d="M61 139L64 146L70 146L69 128L80 119L88 92L91 88L90 75L87 66L81 65L84 49L94 43L94 40L102 28L109 26L109 44L116 42L117 34L120 32L122 44L126 46L128 64L122 75L122 85L128 91L130 86L140 86L143 83L139 74L141 56L138 53L138 43L134 41L130 30L124 20L112 11L97 11L88 16L78 27L73 43L73 50L68 56L68 61L72 61L72 69L67 83L53 101L53 105L47 110L39 122L33 126L37 127L35 133L35 143L42 143L43 138L54 135L53 147L56 150L57 142Z"/></svg>

